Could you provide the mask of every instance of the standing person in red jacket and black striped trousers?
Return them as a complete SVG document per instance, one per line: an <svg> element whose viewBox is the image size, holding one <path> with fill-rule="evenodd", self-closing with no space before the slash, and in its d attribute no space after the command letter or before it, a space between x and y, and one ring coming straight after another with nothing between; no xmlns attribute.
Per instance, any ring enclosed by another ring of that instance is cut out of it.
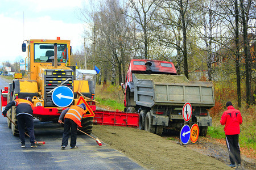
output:
<svg viewBox="0 0 256 170"><path fill-rule="evenodd" d="M234 109L231 101L226 103L226 108L228 111L222 114L220 123L221 125L225 125L226 146L228 146L229 159L231 162L229 167L241 168L239 134L240 125L243 120L240 111Z"/></svg>

